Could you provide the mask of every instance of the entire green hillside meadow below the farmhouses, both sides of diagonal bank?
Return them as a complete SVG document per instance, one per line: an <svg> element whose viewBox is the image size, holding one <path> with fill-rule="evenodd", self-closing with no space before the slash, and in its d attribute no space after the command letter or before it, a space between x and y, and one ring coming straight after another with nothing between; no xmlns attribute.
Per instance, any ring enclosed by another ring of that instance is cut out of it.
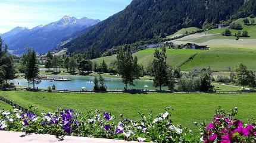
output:
<svg viewBox="0 0 256 143"><path fill-rule="evenodd" d="M154 59L154 48L145 49L134 53L138 57L138 63L144 67ZM179 66L182 71L207 68L213 71L228 71L230 66L235 69L239 62L245 63L249 69L256 71L256 50L244 48L210 48L210 50L192 49L167 49L167 63L173 67ZM93 62L101 63L105 60L108 64L116 59L116 56L107 56L93 59Z"/></svg>

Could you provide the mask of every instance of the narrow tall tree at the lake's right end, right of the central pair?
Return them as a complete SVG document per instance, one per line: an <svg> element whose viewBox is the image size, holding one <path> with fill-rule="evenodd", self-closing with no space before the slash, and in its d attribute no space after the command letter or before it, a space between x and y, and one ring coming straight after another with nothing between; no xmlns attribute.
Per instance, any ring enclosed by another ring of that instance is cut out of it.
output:
<svg viewBox="0 0 256 143"><path fill-rule="evenodd" d="M167 85L168 77L167 77L167 64L166 64L166 47L161 48L161 52L159 49L155 49L154 53L154 82L153 85L155 87L160 87L160 91L162 90L163 85Z"/></svg>

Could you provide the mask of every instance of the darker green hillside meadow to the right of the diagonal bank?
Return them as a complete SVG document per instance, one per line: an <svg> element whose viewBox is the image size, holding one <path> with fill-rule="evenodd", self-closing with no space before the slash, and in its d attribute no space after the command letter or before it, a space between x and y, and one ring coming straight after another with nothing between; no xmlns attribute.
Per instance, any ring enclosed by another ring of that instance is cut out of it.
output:
<svg viewBox="0 0 256 143"><path fill-rule="evenodd" d="M195 58L186 62L180 68L183 71L189 71L195 68L206 68L208 66L213 71L228 71L230 66L232 70L239 62L245 63L248 69L256 71L256 51L239 48L216 48L208 52L198 53Z"/></svg>

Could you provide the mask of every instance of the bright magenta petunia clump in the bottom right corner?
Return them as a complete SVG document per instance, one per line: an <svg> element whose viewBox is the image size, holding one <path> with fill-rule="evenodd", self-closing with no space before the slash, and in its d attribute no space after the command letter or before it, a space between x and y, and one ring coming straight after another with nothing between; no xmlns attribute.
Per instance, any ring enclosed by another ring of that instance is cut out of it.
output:
<svg viewBox="0 0 256 143"><path fill-rule="evenodd" d="M210 124L202 124L203 134L201 141L205 143L213 142L255 142L256 124L252 119L248 123L243 123L235 116L238 113L236 107L230 113L226 113L220 107L216 110L216 115Z"/></svg>

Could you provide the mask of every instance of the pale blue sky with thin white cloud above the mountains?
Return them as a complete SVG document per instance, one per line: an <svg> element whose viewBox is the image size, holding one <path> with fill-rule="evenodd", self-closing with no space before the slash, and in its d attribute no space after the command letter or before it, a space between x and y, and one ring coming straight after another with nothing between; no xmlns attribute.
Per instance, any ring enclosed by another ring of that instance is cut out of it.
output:
<svg viewBox="0 0 256 143"><path fill-rule="evenodd" d="M21 26L33 28L64 15L105 20L132 0L0 0L0 33Z"/></svg>

